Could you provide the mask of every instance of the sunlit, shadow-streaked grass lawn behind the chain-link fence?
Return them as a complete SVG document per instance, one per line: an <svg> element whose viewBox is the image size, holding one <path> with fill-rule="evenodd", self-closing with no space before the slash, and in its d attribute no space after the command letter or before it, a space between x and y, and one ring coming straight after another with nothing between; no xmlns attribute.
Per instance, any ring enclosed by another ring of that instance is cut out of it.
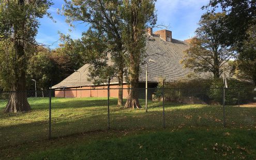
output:
<svg viewBox="0 0 256 160"><path fill-rule="evenodd" d="M0 103L1 147L48 138L49 98L29 98L32 110L28 113L4 114L6 101ZM145 109L116 107L110 99L110 127L114 130L161 129L162 102L149 101ZM144 107L144 100L140 100ZM88 131L104 131L108 127L107 98L53 98L52 137ZM256 108L227 106L227 126L255 126ZM165 103L165 126L222 127L222 107Z"/></svg>

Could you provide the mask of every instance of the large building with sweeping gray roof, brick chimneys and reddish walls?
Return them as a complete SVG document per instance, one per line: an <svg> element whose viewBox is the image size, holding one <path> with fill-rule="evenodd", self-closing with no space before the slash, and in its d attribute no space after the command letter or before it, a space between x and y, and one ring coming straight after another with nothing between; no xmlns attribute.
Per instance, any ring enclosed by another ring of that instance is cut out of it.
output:
<svg viewBox="0 0 256 160"><path fill-rule="evenodd" d="M158 84L160 77L164 77L165 81L172 82L181 78L186 78L191 70L183 68L180 60L184 56L184 51L188 49L189 41L180 41L172 38L172 32L169 30L158 30L153 33L152 28L149 28L147 33L150 35L146 42L147 57L155 62L148 63L148 88L154 88ZM55 97L107 97L106 84L93 85L88 81L88 68L86 64L81 67L78 72L74 72L61 83L53 86ZM146 65L141 65L141 73L139 78L140 88L145 88L145 70ZM80 90L80 74L81 74L81 89ZM118 81L113 79L110 86L110 97L118 97ZM124 82L124 88L127 88ZM124 90L124 98L128 92Z"/></svg>

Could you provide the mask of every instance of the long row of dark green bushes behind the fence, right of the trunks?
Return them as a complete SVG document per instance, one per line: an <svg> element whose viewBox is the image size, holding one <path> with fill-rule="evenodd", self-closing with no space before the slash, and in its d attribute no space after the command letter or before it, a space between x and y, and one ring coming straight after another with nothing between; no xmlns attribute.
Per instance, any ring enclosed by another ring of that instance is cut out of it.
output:
<svg viewBox="0 0 256 160"><path fill-rule="evenodd" d="M225 89L225 104L236 105L253 101L254 86L249 82L228 79L228 87ZM159 82L155 92L156 99L162 97L162 83ZM164 84L164 98L168 101L177 102L180 98L195 97L211 103L223 102L223 79L192 79L190 81L176 81Z"/></svg>

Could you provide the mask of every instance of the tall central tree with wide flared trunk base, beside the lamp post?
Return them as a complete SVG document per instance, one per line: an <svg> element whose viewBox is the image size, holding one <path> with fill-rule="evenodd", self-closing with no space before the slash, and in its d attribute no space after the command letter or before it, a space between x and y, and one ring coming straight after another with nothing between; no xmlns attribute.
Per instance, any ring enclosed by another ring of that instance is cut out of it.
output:
<svg viewBox="0 0 256 160"><path fill-rule="evenodd" d="M122 38L126 49L126 65L130 91L125 108L140 108L138 88L140 64L145 56L146 34L148 25L156 24L154 0L124 0L122 10Z"/></svg>

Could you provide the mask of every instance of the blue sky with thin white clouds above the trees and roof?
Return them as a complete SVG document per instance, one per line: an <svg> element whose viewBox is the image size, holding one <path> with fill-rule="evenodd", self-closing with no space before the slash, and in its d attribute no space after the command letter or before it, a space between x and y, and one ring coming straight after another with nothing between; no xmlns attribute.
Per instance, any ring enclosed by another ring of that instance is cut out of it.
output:
<svg viewBox="0 0 256 160"><path fill-rule="evenodd" d="M57 14L57 9L62 8L64 1L52 0L52 2L54 5L51 6L49 12L52 14L54 21L48 17L40 19L41 25L36 40L39 43L50 45L54 49L61 43L58 33L69 34L71 38L79 39L82 32L88 29L88 26L76 24L76 27L70 27L65 22L65 17ZM194 36L201 15L206 12L201 7L208 2L209 0L157 0L157 24L168 26L167 29L172 31L172 38L174 39L189 39ZM153 31L159 29L161 28L153 28Z"/></svg>

